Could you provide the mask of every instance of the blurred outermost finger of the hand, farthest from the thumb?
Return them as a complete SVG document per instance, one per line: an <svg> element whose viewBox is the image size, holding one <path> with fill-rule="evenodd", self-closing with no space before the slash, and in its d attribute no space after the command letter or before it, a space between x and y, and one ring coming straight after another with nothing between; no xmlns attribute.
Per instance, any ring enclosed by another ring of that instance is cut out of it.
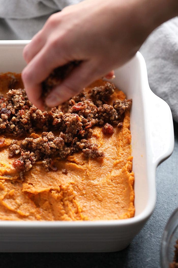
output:
<svg viewBox="0 0 178 268"><path fill-rule="evenodd" d="M44 33L39 31L31 40L29 44L23 49L23 57L27 63L29 63L34 56L42 49L46 42Z"/></svg>

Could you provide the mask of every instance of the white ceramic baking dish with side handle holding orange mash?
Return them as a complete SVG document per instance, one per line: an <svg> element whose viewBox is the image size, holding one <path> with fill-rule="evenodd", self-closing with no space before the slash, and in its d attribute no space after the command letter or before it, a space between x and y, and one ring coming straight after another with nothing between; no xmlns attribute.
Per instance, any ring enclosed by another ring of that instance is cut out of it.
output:
<svg viewBox="0 0 178 268"><path fill-rule="evenodd" d="M0 72L21 72L28 41L0 41ZM114 83L133 99L130 130L135 172L135 217L84 222L0 221L1 252L106 252L125 248L151 215L157 165L173 151L171 110L150 90L142 55L115 71Z"/></svg>

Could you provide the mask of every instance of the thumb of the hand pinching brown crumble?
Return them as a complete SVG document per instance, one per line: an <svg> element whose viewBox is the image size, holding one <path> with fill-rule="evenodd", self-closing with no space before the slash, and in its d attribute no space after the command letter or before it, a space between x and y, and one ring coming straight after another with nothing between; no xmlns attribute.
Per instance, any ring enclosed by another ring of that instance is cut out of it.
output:
<svg viewBox="0 0 178 268"><path fill-rule="evenodd" d="M95 66L91 62L82 62L59 86L50 92L45 101L46 105L54 107L67 101L100 77L102 74L98 72Z"/></svg>

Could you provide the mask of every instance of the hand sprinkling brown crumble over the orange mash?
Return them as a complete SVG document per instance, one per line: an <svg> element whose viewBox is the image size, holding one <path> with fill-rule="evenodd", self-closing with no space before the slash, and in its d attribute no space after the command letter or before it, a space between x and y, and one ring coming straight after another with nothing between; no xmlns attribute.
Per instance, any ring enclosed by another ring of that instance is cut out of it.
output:
<svg viewBox="0 0 178 268"><path fill-rule="evenodd" d="M154 28L140 23L139 2L86 0L50 16L23 52L22 79L30 101L44 109L41 82L58 66L81 62L50 92L49 107L132 58Z"/></svg>

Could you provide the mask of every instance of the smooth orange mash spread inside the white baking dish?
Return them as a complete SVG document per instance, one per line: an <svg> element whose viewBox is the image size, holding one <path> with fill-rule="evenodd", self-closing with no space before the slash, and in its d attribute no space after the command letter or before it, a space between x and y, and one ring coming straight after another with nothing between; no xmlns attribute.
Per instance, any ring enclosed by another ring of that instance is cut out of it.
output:
<svg viewBox="0 0 178 268"><path fill-rule="evenodd" d="M1 76L0 90L8 90L10 77ZM4 83L3 83L4 81ZM101 83L96 82L94 85ZM15 85L19 86L19 84ZM14 87L15 87L14 86ZM93 87L93 85L92 85ZM117 90L112 97L124 99ZM92 142L105 153L103 159L87 159L82 152L55 159L57 171L46 172L37 162L18 179L17 170L9 158L5 137L0 148L0 219L1 220L100 220L124 219L134 216L134 174L129 130L129 111L122 128L114 127L112 135L104 135L101 127L93 129ZM67 169L67 175L62 173Z"/></svg>

